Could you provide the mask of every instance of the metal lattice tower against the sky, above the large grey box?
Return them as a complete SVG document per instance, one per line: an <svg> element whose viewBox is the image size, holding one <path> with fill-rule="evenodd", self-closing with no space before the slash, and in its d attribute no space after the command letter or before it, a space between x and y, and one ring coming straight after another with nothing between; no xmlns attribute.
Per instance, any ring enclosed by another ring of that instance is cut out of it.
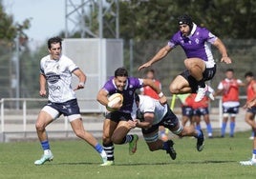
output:
<svg viewBox="0 0 256 179"><path fill-rule="evenodd" d="M96 21L93 21L92 13L89 12L97 13ZM104 18L106 16L111 19ZM89 22L86 23L86 21ZM113 38L119 38L118 21L118 0L65 0L65 38L69 38L77 32L82 38L104 38L104 27L111 31ZM92 30L92 22L98 23L97 31ZM116 24L111 26L110 24L113 23ZM116 29L112 30L113 27Z"/></svg>

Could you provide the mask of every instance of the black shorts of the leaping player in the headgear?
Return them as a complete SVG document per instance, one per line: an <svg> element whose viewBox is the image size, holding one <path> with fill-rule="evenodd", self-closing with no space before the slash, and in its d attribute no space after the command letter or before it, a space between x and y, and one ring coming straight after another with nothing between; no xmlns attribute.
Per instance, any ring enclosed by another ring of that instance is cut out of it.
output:
<svg viewBox="0 0 256 179"><path fill-rule="evenodd" d="M216 73L216 65L213 68L208 68L203 71L203 80L211 80ZM180 74L189 83L189 87L192 89L192 93L196 93L198 90L198 81L191 76L189 70L183 70Z"/></svg>

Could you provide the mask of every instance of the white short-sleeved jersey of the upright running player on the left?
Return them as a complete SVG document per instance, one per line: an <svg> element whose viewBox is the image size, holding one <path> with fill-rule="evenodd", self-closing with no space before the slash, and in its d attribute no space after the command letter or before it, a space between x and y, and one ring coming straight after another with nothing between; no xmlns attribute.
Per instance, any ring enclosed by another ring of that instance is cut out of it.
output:
<svg viewBox="0 0 256 179"><path fill-rule="evenodd" d="M75 99L75 91L71 87L72 72L77 70L75 63L65 55L59 60L51 59L51 55L40 61L40 72L46 77L49 89L48 99L53 103L63 103Z"/></svg>

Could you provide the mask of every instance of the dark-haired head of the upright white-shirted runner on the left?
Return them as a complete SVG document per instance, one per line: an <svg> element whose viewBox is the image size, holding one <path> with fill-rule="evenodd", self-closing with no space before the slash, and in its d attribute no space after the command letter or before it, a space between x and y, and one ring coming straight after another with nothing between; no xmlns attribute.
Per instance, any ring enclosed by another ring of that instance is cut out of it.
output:
<svg viewBox="0 0 256 179"><path fill-rule="evenodd" d="M60 37L53 37L48 40L48 51L54 60L59 59L62 50L62 39Z"/></svg>

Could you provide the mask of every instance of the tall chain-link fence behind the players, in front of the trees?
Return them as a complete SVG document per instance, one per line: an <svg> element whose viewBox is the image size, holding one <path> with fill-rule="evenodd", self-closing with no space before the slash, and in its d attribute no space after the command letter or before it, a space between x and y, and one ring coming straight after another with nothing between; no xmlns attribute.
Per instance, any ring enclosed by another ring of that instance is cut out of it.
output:
<svg viewBox="0 0 256 179"><path fill-rule="evenodd" d="M234 69L236 78L243 81L245 81L244 75L246 71L251 70L254 72L255 42L256 40L224 40L228 54L233 60L233 63L230 65L221 63L219 51L214 47L212 48L217 62L217 73L214 79L209 82L213 89L217 89L218 83L224 78L224 71L228 68ZM148 61L166 43L167 40L124 42L124 64L130 70L130 75L142 77L143 71L138 71L139 65ZM41 47L38 44L45 43L37 42L37 45L30 44L30 47L34 47L33 50L24 47L17 49L15 47L9 47L7 44L0 44L1 98L15 98L17 94L19 95L18 97L23 98L38 97L39 60L48 52L45 46ZM154 64L152 67L156 70L157 78L160 79L162 84L162 90L167 96L171 95L169 84L172 79L184 70L184 58L184 52L178 47L171 51L165 59ZM19 67L16 67L17 64ZM19 75L17 75L17 72ZM19 77L17 78L17 76ZM245 95L245 88L241 89L241 95Z"/></svg>

